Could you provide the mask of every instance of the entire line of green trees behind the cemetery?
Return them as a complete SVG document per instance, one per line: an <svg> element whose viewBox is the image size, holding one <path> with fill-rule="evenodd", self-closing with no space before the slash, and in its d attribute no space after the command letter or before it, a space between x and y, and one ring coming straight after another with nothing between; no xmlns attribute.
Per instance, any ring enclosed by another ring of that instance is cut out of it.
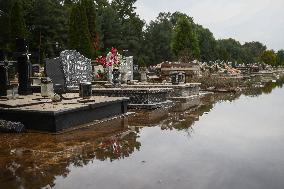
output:
<svg viewBox="0 0 284 189"><path fill-rule="evenodd" d="M0 0L0 48L13 51L15 38L25 37L39 61L64 49L94 59L112 47L128 52L137 63L198 59L284 65L283 50L267 50L261 42L241 44L215 39L213 33L181 12L162 12L146 23L136 13L137 0Z"/></svg>

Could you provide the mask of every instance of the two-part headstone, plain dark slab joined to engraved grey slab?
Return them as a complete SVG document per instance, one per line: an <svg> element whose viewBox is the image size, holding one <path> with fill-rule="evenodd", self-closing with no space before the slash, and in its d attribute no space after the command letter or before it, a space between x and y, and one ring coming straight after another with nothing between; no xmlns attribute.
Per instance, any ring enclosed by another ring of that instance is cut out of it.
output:
<svg viewBox="0 0 284 189"><path fill-rule="evenodd" d="M91 60L74 50L66 50L60 57L46 60L46 75L64 89L78 88L81 82L92 81Z"/></svg>

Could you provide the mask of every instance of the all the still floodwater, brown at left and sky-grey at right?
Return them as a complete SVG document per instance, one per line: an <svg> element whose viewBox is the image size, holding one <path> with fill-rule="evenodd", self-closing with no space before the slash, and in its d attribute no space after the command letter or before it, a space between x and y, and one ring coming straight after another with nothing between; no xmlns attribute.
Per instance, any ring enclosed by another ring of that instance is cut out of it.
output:
<svg viewBox="0 0 284 189"><path fill-rule="evenodd" d="M284 88L60 135L0 134L0 188L283 189Z"/></svg>

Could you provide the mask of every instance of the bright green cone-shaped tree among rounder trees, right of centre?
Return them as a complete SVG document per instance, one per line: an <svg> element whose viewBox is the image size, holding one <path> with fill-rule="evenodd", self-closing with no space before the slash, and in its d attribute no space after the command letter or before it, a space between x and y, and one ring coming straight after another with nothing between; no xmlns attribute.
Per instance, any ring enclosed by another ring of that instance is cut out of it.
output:
<svg viewBox="0 0 284 189"><path fill-rule="evenodd" d="M180 17L174 29L172 51L178 58L199 58L200 50L193 24L187 17Z"/></svg>

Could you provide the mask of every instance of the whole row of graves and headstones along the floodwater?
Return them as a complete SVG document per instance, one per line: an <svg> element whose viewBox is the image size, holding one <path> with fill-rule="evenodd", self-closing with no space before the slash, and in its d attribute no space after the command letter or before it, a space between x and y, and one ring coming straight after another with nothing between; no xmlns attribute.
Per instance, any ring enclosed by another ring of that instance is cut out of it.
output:
<svg viewBox="0 0 284 189"><path fill-rule="evenodd" d="M172 111L186 111L199 105L202 83L190 82L194 78L206 78L209 74L228 81L255 77L266 81L283 74L282 70L258 65L165 62L158 68L161 75L156 76L162 82L153 83L146 67L140 67L140 79L134 80L133 56L122 56L115 48L106 57L98 57L95 64L75 50L64 50L59 57L46 59L42 67L31 64L25 40L18 39L16 47L16 61L7 61L1 55L0 119L15 123L9 128L19 132L24 129L61 132L128 111L142 111L151 122L163 115L155 112L169 107ZM96 80L96 76L101 80ZM231 89L202 89L205 94L206 91L231 92Z"/></svg>

